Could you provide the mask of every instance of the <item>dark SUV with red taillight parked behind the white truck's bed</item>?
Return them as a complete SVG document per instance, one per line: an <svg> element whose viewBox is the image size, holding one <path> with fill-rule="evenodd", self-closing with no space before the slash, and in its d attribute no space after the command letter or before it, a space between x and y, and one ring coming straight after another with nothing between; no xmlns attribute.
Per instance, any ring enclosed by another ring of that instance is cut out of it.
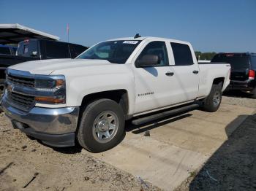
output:
<svg viewBox="0 0 256 191"><path fill-rule="evenodd" d="M219 53L211 61L230 63L231 80L227 90L241 90L256 98L255 53Z"/></svg>

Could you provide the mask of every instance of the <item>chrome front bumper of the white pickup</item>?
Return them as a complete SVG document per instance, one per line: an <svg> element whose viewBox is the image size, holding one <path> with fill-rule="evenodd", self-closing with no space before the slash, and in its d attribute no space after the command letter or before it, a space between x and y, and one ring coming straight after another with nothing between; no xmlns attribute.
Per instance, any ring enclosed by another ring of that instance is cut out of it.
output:
<svg viewBox="0 0 256 191"><path fill-rule="evenodd" d="M14 128L53 147L75 145L79 107L42 108L35 106L30 112L13 107L4 97L1 107Z"/></svg>

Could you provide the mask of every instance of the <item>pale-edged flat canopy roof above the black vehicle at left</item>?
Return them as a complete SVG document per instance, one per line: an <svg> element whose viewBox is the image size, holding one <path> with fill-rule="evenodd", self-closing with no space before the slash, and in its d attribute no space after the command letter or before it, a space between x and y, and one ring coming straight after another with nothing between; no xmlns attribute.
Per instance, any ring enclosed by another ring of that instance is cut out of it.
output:
<svg viewBox="0 0 256 191"><path fill-rule="evenodd" d="M19 24L0 24L0 44L16 44L24 39L59 40L58 36L37 31Z"/></svg>

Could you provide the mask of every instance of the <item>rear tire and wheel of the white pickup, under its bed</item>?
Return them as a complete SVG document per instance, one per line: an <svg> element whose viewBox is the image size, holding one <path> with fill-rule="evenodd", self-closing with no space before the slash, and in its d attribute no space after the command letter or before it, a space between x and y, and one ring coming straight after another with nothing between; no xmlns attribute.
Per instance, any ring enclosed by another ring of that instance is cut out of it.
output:
<svg viewBox="0 0 256 191"><path fill-rule="evenodd" d="M222 102L222 85L212 85L210 94L203 100L202 109L206 112L216 112Z"/></svg>

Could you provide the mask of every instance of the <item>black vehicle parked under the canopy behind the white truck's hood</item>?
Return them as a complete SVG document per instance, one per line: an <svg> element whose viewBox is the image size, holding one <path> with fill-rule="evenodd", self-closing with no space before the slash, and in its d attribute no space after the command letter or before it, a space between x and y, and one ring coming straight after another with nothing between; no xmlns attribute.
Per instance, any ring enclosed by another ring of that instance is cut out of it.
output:
<svg viewBox="0 0 256 191"><path fill-rule="evenodd" d="M0 47L1 48L1 47ZM0 55L0 98L4 91L7 67L26 61L53 58L75 58L87 47L46 39L27 39L18 44L16 55Z"/></svg>

